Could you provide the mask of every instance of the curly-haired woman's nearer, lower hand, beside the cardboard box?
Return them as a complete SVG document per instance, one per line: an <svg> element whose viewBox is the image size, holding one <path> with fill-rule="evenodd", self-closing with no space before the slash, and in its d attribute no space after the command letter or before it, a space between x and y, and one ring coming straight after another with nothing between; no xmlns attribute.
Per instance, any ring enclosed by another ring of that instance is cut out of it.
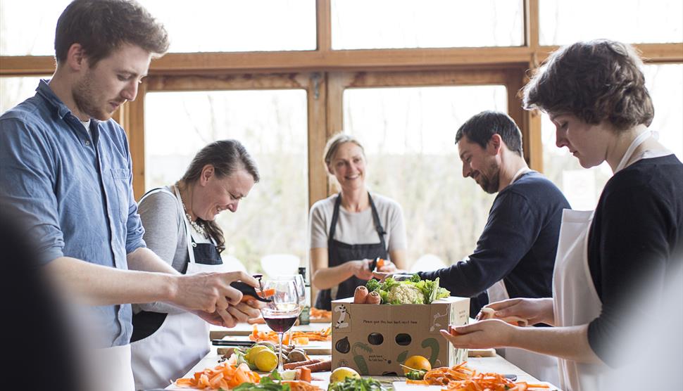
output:
<svg viewBox="0 0 683 391"><path fill-rule="evenodd" d="M509 346L516 329L518 327L497 319L491 319L467 326L454 327L449 325L449 330L441 330L440 332L455 347L488 349L489 347Z"/></svg>

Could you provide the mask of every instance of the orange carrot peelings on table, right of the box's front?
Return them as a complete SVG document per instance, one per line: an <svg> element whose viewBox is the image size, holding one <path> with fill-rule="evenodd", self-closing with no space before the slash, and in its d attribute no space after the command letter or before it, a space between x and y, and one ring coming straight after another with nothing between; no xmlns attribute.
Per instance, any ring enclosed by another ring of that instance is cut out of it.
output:
<svg viewBox="0 0 683 391"><path fill-rule="evenodd" d="M452 391L526 391L530 388L549 388L543 384L513 383L500 373L477 373L465 364L467 361L451 368L434 368L425 373L424 380L406 380L406 384L441 385L446 387L444 390Z"/></svg>

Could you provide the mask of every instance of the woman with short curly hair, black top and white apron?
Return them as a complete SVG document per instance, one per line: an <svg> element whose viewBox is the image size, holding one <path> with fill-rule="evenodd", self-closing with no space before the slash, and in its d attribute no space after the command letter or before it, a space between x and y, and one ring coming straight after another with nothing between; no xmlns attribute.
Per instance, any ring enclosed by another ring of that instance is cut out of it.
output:
<svg viewBox="0 0 683 391"><path fill-rule="evenodd" d="M443 333L458 347L519 347L558 357L563 390L610 390L622 328L653 316L629 307L634 293L658 292L683 255L683 164L651 135L654 110L630 46L579 42L553 53L525 86L525 107L548 113L557 145L582 167L606 161L613 177L595 211L565 210L552 299L492 303L496 317L519 316L553 328L494 319ZM646 291L647 292L647 291ZM635 302L635 301L634 301ZM646 333L646 330L643 330ZM608 365L609 364L609 365Z"/></svg>

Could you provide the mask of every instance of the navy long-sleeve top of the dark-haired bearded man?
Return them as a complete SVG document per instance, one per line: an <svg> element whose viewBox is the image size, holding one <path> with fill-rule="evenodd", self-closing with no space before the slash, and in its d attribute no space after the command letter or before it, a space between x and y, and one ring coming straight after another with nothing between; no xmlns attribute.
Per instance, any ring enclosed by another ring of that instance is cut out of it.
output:
<svg viewBox="0 0 683 391"><path fill-rule="evenodd" d="M502 279L510 297L552 297L562 210L568 208L557 186L538 172L527 172L496 196L469 257L422 271L420 277L439 277L439 285L453 296L476 297ZM477 307L470 312L475 314Z"/></svg>

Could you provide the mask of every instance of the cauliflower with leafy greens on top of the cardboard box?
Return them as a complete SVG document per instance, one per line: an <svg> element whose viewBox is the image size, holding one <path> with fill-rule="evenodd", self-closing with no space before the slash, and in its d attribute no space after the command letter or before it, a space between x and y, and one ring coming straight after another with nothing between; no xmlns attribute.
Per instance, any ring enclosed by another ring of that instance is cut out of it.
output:
<svg viewBox="0 0 683 391"><path fill-rule="evenodd" d="M365 284L370 293L377 292L382 299L382 304L432 304L434 300L449 297L451 293L445 288L439 287L439 278L434 281L422 280L418 274L406 281L396 281L394 278L386 278L380 283L370 280Z"/></svg>

